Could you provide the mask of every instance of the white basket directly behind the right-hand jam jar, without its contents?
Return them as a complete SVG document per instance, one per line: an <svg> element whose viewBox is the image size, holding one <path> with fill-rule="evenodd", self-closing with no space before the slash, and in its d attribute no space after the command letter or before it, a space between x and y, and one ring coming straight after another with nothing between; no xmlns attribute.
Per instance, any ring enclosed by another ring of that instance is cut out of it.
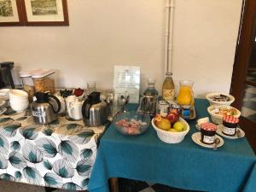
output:
<svg viewBox="0 0 256 192"><path fill-rule="evenodd" d="M211 115L212 122L216 123L216 124L222 124L224 115L214 113L214 111L218 108L230 108L231 109L233 107L226 106L226 105L212 105L207 108L208 113ZM236 115L232 115L232 116L239 118L241 115L241 112L237 108L234 108L234 109L236 110Z"/></svg>

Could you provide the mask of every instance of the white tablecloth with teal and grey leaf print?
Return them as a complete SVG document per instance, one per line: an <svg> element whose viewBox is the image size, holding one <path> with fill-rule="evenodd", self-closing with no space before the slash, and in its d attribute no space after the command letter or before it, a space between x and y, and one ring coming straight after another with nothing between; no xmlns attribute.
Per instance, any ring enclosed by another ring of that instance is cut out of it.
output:
<svg viewBox="0 0 256 192"><path fill-rule="evenodd" d="M105 126L59 118L35 125L32 116L9 111L0 116L0 179L85 190Z"/></svg>

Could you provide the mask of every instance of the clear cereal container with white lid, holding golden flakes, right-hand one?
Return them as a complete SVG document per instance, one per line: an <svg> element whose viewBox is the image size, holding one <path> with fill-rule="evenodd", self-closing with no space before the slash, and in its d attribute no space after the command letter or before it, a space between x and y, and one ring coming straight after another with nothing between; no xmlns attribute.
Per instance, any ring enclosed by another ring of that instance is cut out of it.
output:
<svg viewBox="0 0 256 192"><path fill-rule="evenodd" d="M37 69L32 71L32 79L36 92L49 91L51 94L55 93L55 71L48 69Z"/></svg>

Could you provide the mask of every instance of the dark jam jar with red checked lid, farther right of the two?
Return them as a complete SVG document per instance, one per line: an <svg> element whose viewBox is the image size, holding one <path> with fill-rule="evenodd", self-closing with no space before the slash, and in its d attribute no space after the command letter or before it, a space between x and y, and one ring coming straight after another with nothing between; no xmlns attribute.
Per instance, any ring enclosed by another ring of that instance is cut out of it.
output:
<svg viewBox="0 0 256 192"><path fill-rule="evenodd" d="M231 115L224 116L223 129L222 129L223 134L227 136L235 136L238 122L239 122L239 119L234 116L231 116Z"/></svg>

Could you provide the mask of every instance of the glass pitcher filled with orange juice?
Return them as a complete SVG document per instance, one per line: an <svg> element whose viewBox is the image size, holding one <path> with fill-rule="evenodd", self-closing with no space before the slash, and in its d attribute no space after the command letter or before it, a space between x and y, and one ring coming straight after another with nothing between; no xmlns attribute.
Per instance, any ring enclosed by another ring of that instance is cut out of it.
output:
<svg viewBox="0 0 256 192"><path fill-rule="evenodd" d="M193 84L194 82L189 80L179 82L180 88L177 95L177 103L179 105L190 105L191 108L194 107Z"/></svg>

